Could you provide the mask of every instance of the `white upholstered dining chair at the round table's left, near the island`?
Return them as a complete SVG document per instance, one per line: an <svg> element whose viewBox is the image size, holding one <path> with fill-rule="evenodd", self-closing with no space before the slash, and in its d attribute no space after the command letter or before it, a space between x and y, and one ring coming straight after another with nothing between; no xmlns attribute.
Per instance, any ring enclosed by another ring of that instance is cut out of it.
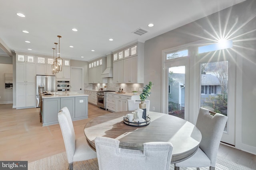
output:
<svg viewBox="0 0 256 170"><path fill-rule="evenodd" d="M73 162L97 157L96 152L86 143L85 137L76 139L72 119L67 107L63 107L58 112L58 121L64 139L69 170L73 169Z"/></svg>

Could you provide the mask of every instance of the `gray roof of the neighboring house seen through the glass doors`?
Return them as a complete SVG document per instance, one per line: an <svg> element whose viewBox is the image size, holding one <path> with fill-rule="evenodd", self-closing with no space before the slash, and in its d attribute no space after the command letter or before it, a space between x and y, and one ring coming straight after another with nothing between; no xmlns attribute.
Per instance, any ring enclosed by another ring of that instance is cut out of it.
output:
<svg viewBox="0 0 256 170"><path fill-rule="evenodd" d="M183 73L169 73L169 76L174 80L185 84L185 74ZM201 74L201 85L220 85L218 78L211 74Z"/></svg>

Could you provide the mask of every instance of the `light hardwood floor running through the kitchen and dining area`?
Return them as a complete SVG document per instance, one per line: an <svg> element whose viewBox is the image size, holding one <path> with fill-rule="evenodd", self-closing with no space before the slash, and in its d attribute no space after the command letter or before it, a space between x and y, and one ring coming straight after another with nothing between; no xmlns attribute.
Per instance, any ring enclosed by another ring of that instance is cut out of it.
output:
<svg viewBox="0 0 256 170"><path fill-rule="evenodd" d="M76 137L84 137L84 126L88 121L107 113L111 112L88 104L89 118L73 121ZM32 162L64 151L60 126L42 127L39 108L12 109L12 104L0 105L0 160ZM254 154L221 144L218 155L256 169Z"/></svg>

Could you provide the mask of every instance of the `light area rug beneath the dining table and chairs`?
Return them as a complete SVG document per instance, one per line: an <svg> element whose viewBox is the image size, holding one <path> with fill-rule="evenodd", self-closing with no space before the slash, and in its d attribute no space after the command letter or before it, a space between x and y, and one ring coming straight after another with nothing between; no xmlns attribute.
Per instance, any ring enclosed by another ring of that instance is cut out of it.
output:
<svg viewBox="0 0 256 170"><path fill-rule="evenodd" d="M49 156L34 162L28 163L28 170L67 170L68 160L66 152ZM74 170L98 170L97 158L74 162ZM174 170L174 164L171 164L170 170ZM196 168L181 168L180 170L196 170ZM200 168L200 170L209 170L209 167ZM217 157L215 170L252 170L246 166L226 160L220 156Z"/></svg>

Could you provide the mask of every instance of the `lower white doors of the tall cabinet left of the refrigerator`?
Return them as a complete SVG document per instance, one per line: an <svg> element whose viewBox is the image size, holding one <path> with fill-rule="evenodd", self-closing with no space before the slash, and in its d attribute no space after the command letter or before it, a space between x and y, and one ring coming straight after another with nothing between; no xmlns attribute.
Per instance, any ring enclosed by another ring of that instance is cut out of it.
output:
<svg viewBox="0 0 256 170"><path fill-rule="evenodd" d="M35 107L35 83L16 83L16 107Z"/></svg>

